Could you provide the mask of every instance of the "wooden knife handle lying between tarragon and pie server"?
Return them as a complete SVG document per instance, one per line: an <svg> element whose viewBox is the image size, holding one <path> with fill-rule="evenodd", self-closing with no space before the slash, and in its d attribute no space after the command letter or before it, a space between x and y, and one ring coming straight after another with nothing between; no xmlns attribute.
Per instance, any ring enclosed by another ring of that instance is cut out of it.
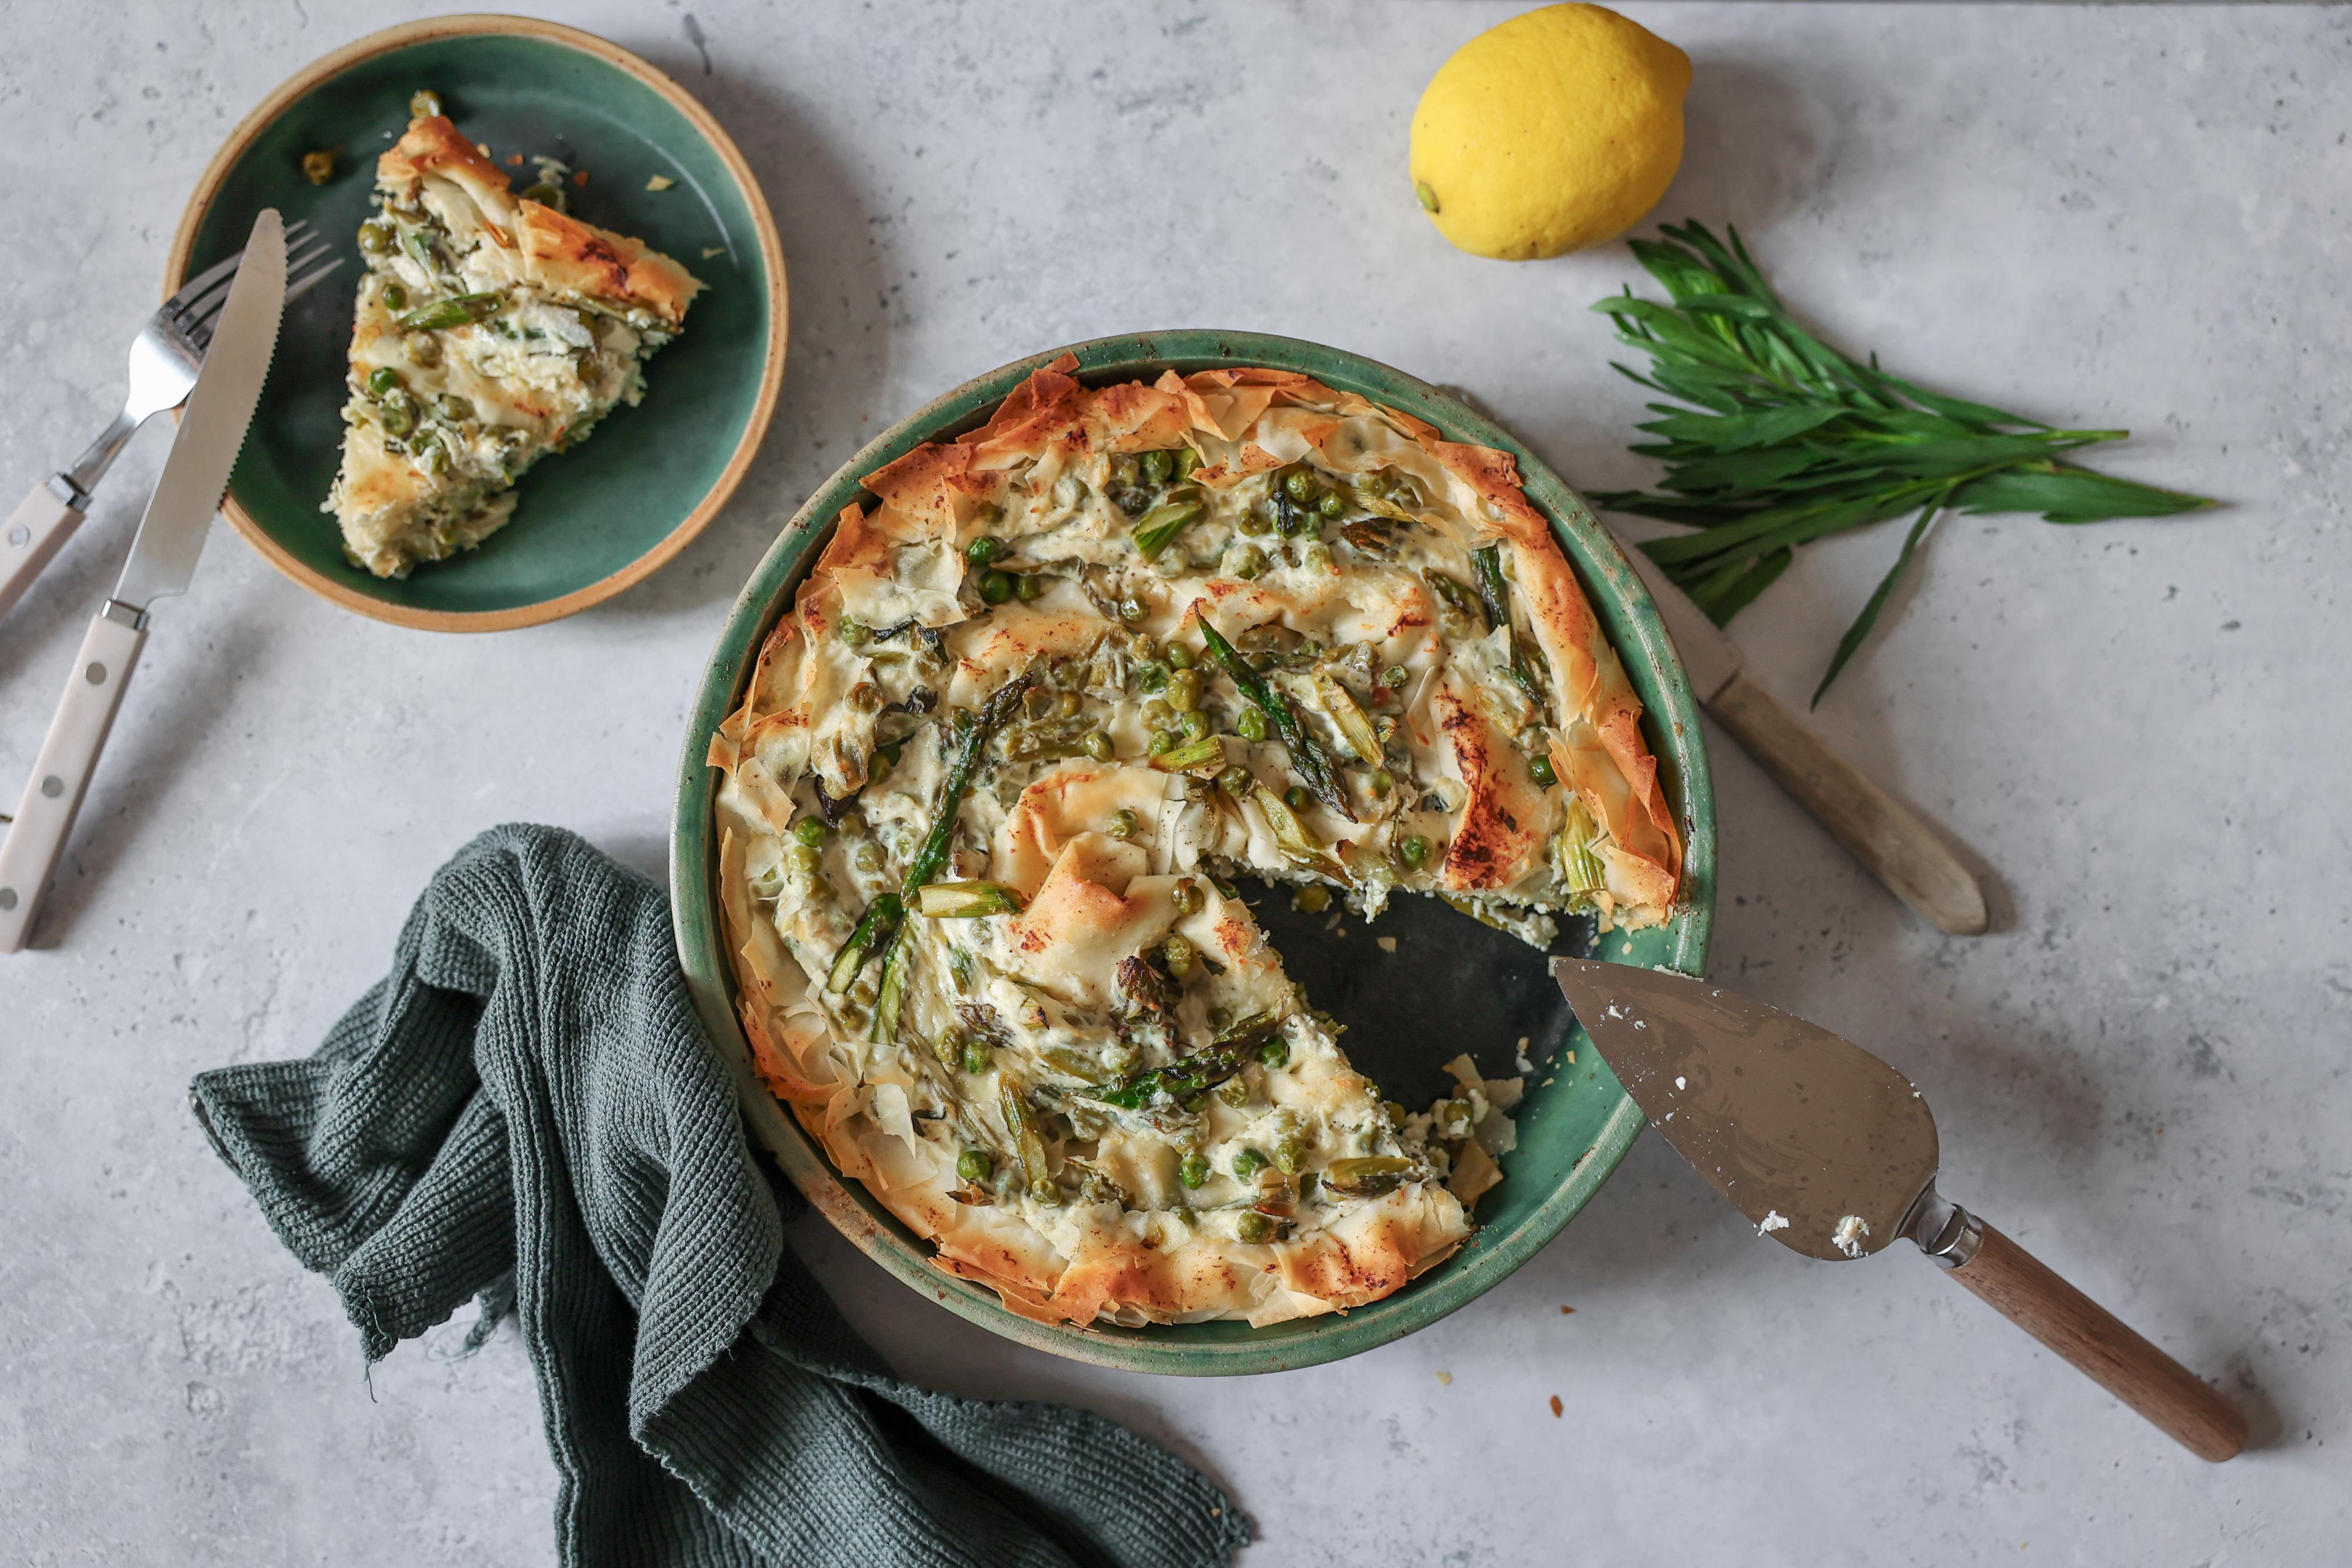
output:
<svg viewBox="0 0 2352 1568"><path fill-rule="evenodd" d="M1745 670L1724 682L1708 712L1896 898L1952 936L1983 933L1990 924L1985 889L1976 886L1969 867Z"/></svg>

